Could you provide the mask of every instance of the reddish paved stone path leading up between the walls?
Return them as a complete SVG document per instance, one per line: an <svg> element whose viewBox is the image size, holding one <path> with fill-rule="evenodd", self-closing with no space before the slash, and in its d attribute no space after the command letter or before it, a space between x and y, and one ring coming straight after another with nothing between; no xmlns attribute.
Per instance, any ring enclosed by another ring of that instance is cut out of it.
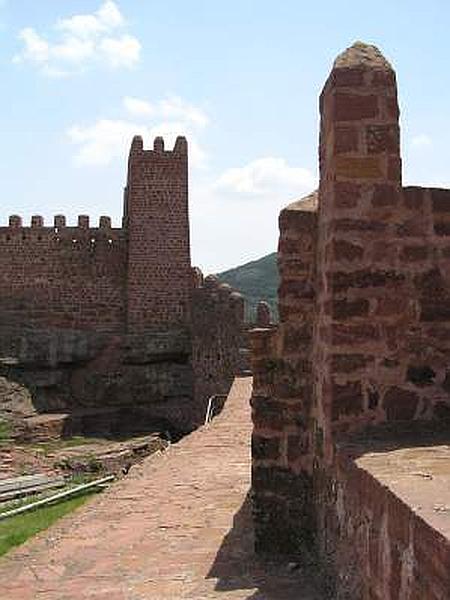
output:
<svg viewBox="0 0 450 600"><path fill-rule="evenodd" d="M322 598L313 574L253 556L250 393L236 379L208 428L0 560L0 599Z"/></svg>

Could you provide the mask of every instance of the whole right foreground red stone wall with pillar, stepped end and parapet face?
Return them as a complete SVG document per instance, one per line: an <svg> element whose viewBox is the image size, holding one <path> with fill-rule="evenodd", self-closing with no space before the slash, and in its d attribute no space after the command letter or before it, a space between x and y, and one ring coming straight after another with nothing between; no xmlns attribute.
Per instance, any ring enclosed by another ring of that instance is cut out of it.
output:
<svg viewBox="0 0 450 600"><path fill-rule="evenodd" d="M443 600L448 540L346 444L448 443L450 191L402 187L395 74L374 47L337 59L320 108L319 191L280 215L280 324L252 333L256 544L319 552L338 598Z"/></svg>

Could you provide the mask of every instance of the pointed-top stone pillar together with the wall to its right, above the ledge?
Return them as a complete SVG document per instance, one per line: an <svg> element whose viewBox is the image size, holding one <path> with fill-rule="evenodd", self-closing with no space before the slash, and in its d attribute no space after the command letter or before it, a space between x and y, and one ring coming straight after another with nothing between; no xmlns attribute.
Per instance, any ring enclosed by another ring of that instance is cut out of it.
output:
<svg viewBox="0 0 450 600"><path fill-rule="evenodd" d="M321 114L314 364L327 440L448 410L450 191L401 188L395 74L381 54L339 57Z"/></svg>

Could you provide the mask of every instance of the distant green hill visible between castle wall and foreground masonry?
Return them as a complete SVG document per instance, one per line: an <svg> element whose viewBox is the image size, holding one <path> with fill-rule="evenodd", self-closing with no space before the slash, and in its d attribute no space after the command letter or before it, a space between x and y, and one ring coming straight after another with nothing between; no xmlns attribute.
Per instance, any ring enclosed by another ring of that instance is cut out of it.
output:
<svg viewBox="0 0 450 600"><path fill-rule="evenodd" d="M258 260L217 274L220 281L237 289L246 299L247 320L254 320L255 308L260 300L265 300L272 311L273 319L278 319L277 253L273 252Z"/></svg>

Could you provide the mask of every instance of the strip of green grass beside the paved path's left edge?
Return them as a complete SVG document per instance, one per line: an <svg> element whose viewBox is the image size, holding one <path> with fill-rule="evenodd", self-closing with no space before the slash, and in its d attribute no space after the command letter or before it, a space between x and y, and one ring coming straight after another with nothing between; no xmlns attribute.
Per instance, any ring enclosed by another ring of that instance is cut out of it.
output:
<svg viewBox="0 0 450 600"><path fill-rule="evenodd" d="M86 493L58 504L44 506L35 511L0 521L0 556L6 554L11 548L20 546L36 533L50 527L55 521L84 504L94 493Z"/></svg>

